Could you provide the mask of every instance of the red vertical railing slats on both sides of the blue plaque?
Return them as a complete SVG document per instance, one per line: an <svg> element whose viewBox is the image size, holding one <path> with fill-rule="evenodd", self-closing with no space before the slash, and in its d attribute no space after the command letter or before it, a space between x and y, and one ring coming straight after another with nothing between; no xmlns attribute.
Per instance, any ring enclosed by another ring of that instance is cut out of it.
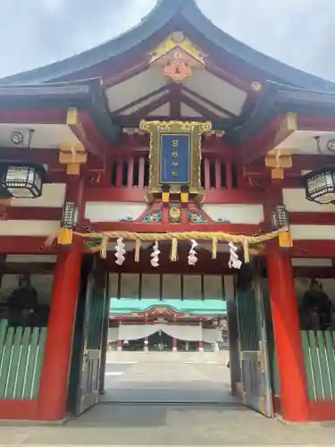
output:
<svg viewBox="0 0 335 447"><path fill-rule="evenodd" d="M231 190L238 188L236 166L205 156L201 162L201 185L205 190ZM149 159L147 155L120 157L111 163L110 186L116 188L147 188Z"/></svg>

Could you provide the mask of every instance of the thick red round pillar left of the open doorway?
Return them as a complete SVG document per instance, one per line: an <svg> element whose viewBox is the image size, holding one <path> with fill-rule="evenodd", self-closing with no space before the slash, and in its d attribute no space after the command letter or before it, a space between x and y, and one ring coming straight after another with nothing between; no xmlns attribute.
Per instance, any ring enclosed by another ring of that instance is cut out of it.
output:
<svg viewBox="0 0 335 447"><path fill-rule="evenodd" d="M66 200L73 200L82 216L83 180L68 184ZM38 417L41 420L63 419L66 413L73 328L80 291L82 240L74 239L71 247L60 248L54 268L54 286L47 325L38 393Z"/></svg>

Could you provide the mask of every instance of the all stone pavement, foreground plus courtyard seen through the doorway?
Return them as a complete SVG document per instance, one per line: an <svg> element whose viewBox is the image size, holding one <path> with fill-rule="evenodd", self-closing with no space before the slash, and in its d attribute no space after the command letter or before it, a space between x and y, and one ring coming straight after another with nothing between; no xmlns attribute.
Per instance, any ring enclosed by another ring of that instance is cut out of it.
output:
<svg viewBox="0 0 335 447"><path fill-rule="evenodd" d="M335 446L335 424L286 425L230 396L225 359L112 357L105 401L63 426L0 424L0 447Z"/></svg>

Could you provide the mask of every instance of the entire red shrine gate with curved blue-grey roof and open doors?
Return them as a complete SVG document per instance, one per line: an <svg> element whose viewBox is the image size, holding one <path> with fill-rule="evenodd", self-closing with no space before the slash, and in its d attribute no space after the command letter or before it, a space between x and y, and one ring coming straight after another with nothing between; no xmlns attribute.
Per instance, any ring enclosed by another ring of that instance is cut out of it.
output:
<svg viewBox="0 0 335 447"><path fill-rule="evenodd" d="M216 299L231 392L266 417L334 419L334 156L335 83L194 0L1 79L0 418L96 404L110 299L143 299L140 325L169 315L180 339L201 320L185 309Z"/></svg>

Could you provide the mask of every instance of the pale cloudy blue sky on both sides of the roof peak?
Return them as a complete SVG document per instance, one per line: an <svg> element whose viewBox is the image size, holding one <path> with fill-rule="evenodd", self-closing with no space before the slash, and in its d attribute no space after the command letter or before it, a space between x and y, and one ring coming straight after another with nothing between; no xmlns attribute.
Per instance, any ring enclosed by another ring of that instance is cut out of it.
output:
<svg viewBox="0 0 335 447"><path fill-rule="evenodd" d="M188 0L184 0L188 1ZM1 0L0 76L75 55L136 25L155 0ZM334 0L197 0L215 25L335 80Z"/></svg>

